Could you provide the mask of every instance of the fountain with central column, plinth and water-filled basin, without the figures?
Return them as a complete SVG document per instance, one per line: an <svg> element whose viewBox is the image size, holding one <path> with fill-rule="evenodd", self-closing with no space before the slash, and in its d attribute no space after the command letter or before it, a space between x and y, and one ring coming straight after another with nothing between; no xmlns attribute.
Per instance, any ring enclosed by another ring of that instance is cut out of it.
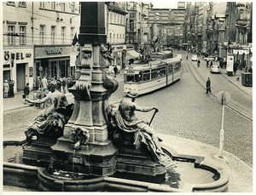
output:
<svg viewBox="0 0 256 195"><path fill-rule="evenodd" d="M111 112L118 111L108 105L118 82L105 71L111 60L105 6L81 3L80 65L68 83L74 104L55 109L43 133L31 128L26 141L3 142L3 184L38 191L224 192L229 176L223 169L168 146L156 154L152 137L116 125ZM58 116L65 118L63 129Z"/></svg>

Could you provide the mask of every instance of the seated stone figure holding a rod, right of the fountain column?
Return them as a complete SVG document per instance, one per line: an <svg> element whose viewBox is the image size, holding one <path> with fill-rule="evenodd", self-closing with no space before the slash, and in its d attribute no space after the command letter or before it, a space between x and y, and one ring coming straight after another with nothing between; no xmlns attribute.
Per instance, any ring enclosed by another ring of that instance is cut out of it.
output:
<svg viewBox="0 0 256 195"><path fill-rule="evenodd" d="M140 143L144 143L148 146L148 150L154 154L154 157L160 160L160 155L164 155L161 149L160 141L156 135L154 129L148 125L148 121L140 120L137 118L135 112L149 112L155 110L156 107L142 107L138 106L134 100L137 94L134 92L128 93L127 97L119 103L118 110L114 110L113 106L108 106L109 117L112 119L113 126L117 126L127 133L134 134L135 146L139 146ZM114 134L113 139L120 139L120 135Z"/></svg>

